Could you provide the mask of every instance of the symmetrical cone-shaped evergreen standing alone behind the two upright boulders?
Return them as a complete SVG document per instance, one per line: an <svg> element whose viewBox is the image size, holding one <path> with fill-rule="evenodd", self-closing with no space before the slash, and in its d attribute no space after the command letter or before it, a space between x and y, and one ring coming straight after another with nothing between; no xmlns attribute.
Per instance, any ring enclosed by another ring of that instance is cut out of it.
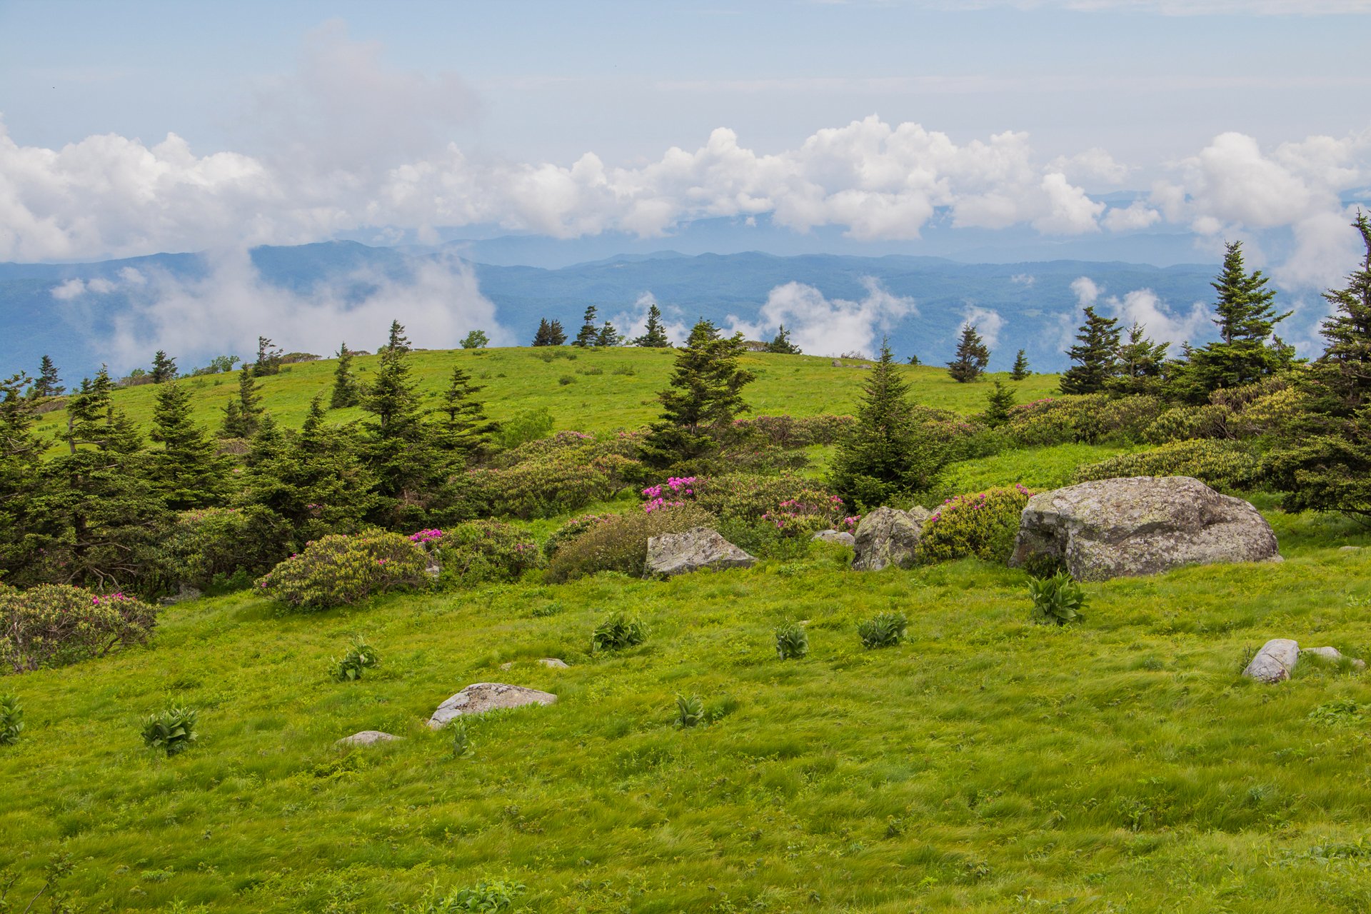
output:
<svg viewBox="0 0 1371 914"><path fill-rule="evenodd" d="M931 489L942 466L941 448L914 422L909 382L895 370L884 340L880 359L862 384L851 432L834 454L828 484L856 512Z"/></svg>

